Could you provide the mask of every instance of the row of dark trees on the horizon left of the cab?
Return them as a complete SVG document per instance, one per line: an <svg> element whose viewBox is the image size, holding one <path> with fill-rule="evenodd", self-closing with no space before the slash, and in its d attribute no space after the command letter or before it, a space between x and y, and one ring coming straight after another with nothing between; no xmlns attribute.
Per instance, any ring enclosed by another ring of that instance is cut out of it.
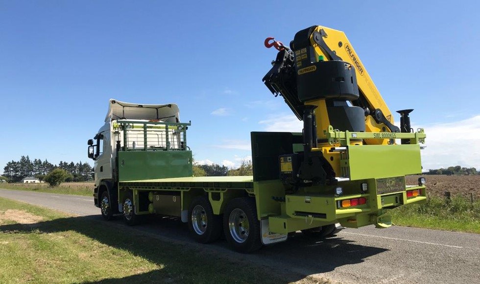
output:
<svg viewBox="0 0 480 284"><path fill-rule="evenodd" d="M8 162L3 167L3 176L11 183L21 182L25 177L36 177L43 180L49 172L56 168L64 169L68 173L65 180L67 182L83 182L92 179L93 168L86 162L68 163L60 161L58 165L54 165L47 159L45 161L40 159L32 161L28 156L22 156L19 161Z"/></svg>

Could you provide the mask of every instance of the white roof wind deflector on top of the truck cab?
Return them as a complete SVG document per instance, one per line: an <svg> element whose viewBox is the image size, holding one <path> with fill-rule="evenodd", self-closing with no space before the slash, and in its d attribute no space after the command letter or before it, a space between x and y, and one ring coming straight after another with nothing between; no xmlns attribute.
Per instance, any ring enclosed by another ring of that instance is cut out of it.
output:
<svg viewBox="0 0 480 284"><path fill-rule="evenodd" d="M136 104L110 99L105 122L112 119L160 119L165 122L179 122L180 111L174 103Z"/></svg>

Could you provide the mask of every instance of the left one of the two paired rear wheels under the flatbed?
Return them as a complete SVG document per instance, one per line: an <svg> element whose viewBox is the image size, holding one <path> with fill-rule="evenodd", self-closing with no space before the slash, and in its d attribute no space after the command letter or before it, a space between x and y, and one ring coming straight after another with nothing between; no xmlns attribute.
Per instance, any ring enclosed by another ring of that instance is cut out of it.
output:
<svg viewBox="0 0 480 284"><path fill-rule="evenodd" d="M189 207L190 236L199 243L216 241L222 234L222 217L215 215L204 196L193 199Z"/></svg>

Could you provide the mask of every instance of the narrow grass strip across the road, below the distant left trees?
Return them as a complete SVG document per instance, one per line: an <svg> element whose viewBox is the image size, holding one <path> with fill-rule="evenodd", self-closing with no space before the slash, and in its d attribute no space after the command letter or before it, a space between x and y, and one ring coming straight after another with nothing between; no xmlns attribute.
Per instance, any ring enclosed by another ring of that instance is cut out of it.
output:
<svg viewBox="0 0 480 284"><path fill-rule="evenodd" d="M51 188L48 184L0 184L0 189L14 189L35 192L72 194L81 196L93 196L93 183L62 183L58 187Z"/></svg>

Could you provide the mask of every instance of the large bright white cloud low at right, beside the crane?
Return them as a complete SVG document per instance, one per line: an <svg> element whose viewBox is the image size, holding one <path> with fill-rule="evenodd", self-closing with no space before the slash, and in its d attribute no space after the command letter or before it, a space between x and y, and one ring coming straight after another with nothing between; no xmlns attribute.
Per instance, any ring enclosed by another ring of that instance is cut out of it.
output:
<svg viewBox="0 0 480 284"><path fill-rule="evenodd" d="M422 150L424 169L457 165L480 168L480 115L423 128L427 134L427 147Z"/></svg>

